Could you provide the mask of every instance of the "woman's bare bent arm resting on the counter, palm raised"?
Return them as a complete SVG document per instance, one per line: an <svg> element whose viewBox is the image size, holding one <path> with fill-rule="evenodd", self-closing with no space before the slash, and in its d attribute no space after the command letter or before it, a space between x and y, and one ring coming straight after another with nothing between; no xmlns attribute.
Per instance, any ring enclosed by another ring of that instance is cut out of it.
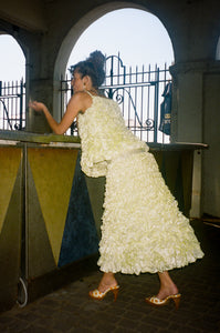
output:
<svg viewBox="0 0 220 333"><path fill-rule="evenodd" d="M87 94L85 95L84 93L75 93L71 98L66 108L66 112L60 123L53 119L45 104L34 101L30 102L29 105L38 112L43 111L52 131L55 134L63 134L71 127L77 114L81 111L84 112L87 108L90 108L91 103L92 101L87 99Z"/></svg>

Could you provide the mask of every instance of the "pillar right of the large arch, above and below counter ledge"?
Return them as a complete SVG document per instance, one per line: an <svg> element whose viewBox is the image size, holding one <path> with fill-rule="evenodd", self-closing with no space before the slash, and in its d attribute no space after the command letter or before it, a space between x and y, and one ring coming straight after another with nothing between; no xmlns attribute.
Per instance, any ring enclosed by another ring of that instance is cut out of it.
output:
<svg viewBox="0 0 220 333"><path fill-rule="evenodd" d="M201 65L201 64L200 64ZM172 142L202 143L202 71L196 63L176 64L170 71L174 78ZM199 68L196 69L196 68ZM202 160L201 151L193 157L191 218L202 215Z"/></svg>

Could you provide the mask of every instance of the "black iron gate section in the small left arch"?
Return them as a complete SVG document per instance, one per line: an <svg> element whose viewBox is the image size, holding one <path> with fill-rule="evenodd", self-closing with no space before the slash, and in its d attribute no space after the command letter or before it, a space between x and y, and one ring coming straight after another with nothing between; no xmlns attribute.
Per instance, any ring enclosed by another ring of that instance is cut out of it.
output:
<svg viewBox="0 0 220 333"><path fill-rule="evenodd" d="M22 130L25 128L25 83L0 81L0 129Z"/></svg>

